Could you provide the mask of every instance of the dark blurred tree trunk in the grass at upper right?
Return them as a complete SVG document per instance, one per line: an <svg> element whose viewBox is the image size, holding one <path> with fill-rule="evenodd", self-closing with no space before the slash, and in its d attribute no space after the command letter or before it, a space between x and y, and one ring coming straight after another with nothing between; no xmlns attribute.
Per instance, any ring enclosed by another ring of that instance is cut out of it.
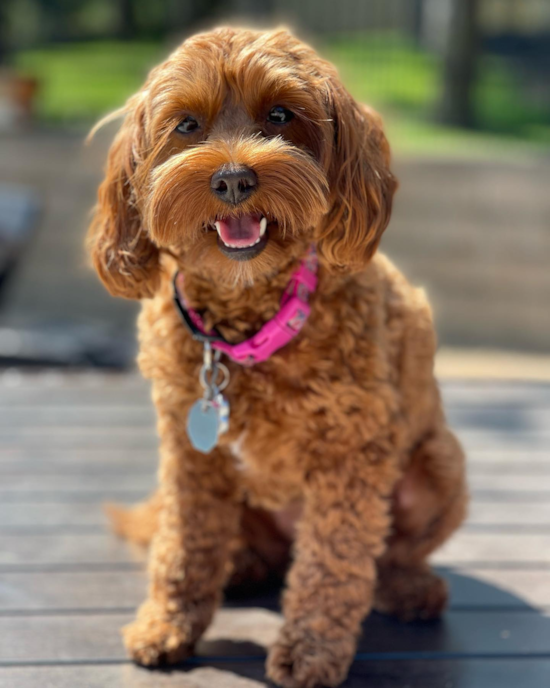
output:
<svg viewBox="0 0 550 688"><path fill-rule="evenodd" d="M477 0L453 0L444 56L443 97L439 119L444 124L473 127L473 90L478 56Z"/></svg>

